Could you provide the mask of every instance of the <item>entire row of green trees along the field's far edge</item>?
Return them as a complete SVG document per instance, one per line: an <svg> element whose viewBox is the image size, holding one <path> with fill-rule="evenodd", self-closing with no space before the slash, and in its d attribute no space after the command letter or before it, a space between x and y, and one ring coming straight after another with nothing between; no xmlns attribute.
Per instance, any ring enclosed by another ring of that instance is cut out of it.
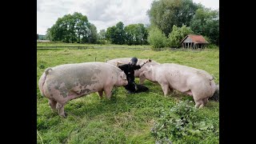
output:
<svg viewBox="0 0 256 144"><path fill-rule="evenodd" d="M51 41L179 47L187 34L200 34L210 43L219 43L219 11L208 9L192 0L159 0L147 11L150 25L124 26L118 22L106 30L90 23L86 15L75 12L58 18L46 32Z"/></svg>

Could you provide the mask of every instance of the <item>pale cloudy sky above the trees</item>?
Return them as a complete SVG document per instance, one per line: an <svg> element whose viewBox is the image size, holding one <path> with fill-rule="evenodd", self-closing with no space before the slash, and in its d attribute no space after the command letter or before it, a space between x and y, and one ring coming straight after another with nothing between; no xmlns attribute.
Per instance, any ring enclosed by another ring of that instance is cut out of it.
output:
<svg viewBox="0 0 256 144"><path fill-rule="evenodd" d="M97 30L123 22L149 24L146 11L154 0L37 0L37 33L46 34L47 28L58 18L74 12L86 15ZM203 6L218 9L219 0L193 0Z"/></svg>

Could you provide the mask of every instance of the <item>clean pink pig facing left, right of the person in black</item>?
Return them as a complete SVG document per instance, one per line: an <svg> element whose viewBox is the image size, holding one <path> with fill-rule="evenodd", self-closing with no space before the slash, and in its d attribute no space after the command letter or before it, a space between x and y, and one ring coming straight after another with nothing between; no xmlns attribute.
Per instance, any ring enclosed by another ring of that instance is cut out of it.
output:
<svg viewBox="0 0 256 144"><path fill-rule="evenodd" d="M204 70L174 63L164 63L146 68L142 71L140 78L158 82L162 86L165 96L172 90L178 90L193 96L195 107L201 108L214 94L214 78Z"/></svg>

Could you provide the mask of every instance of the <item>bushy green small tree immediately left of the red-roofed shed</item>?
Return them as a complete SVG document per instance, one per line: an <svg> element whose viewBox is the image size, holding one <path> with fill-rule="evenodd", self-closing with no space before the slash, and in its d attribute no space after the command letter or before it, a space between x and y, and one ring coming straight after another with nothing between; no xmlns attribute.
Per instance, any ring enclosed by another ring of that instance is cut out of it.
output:
<svg viewBox="0 0 256 144"><path fill-rule="evenodd" d="M187 34L194 34L190 27L177 27L174 25L171 33L169 34L168 45L170 47L180 47L180 42L182 42L182 39L185 38Z"/></svg>

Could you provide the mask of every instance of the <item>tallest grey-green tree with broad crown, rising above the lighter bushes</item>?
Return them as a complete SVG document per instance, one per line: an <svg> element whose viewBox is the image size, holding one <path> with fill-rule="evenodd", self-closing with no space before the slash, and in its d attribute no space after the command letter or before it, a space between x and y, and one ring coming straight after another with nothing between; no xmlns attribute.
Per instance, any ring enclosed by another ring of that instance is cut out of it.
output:
<svg viewBox="0 0 256 144"><path fill-rule="evenodd" d="M192 0L159 0L151 4L147 14L152 25L157 26L166 36L174 25L189 26L198 5Z"/></svg>

